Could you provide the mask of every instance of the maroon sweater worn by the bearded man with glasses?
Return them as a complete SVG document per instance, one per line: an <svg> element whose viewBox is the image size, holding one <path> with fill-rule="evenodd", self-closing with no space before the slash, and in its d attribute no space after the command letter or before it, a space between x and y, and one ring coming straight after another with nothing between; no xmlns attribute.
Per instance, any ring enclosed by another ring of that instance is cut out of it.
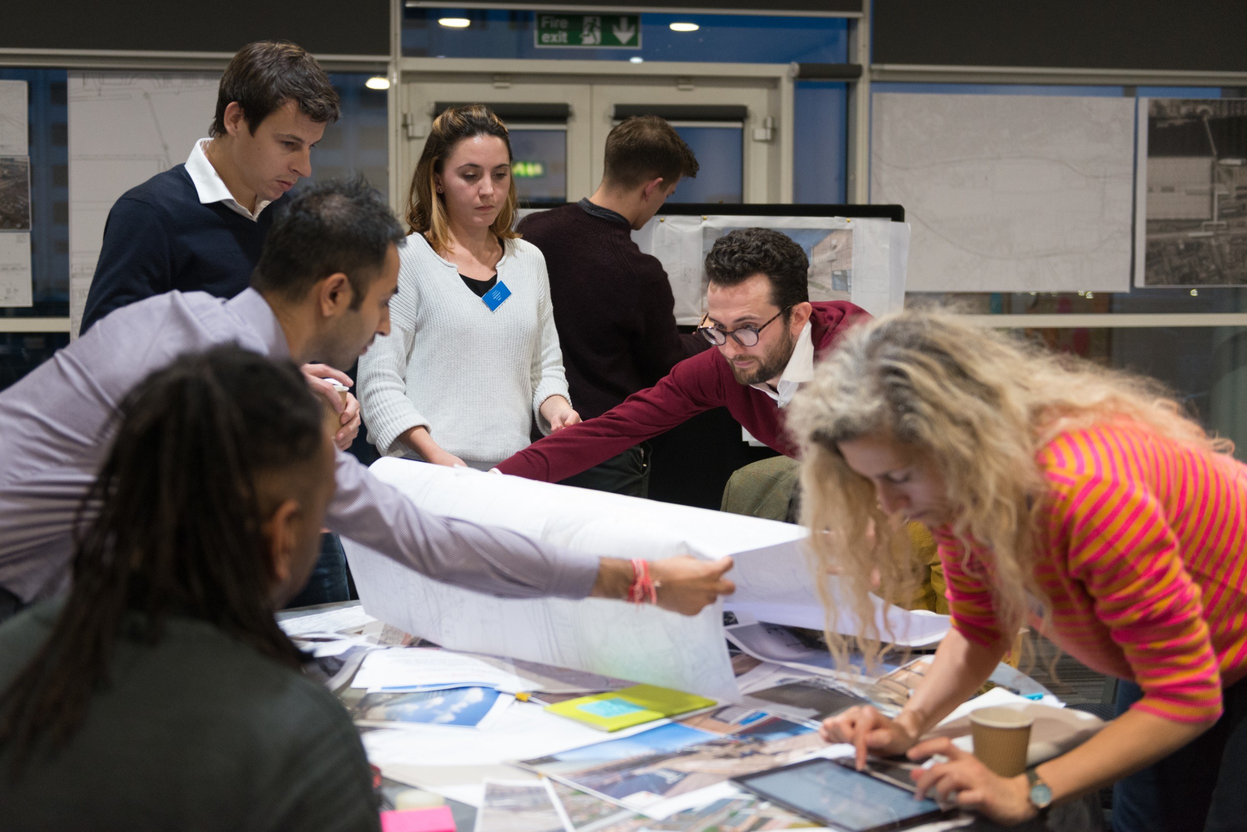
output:
<svg viewBox="0 0 1247 832"><path fill-rule="evenodd" d="M811 335L817 360L865 311L843 300L813 306ZM708 350L681 361L658 384L628 396L604 416L551 433L498 467L503 473L559 482L713 407L727 407L754 438L776 451L796 453L783 430L783 411L774 400L737 382L720 351Z"/></svg>

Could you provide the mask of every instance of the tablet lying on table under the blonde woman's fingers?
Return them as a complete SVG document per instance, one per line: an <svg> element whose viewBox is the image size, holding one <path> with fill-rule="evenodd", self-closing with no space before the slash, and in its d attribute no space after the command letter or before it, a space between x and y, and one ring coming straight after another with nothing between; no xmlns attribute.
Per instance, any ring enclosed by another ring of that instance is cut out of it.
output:
<svg viewBox="0 0 1247 832"><path fill-rule="evenodd" d="M848 832L902 830L943 817L933 800L826 757L794 762L732 782L812 821Z"/></svg>

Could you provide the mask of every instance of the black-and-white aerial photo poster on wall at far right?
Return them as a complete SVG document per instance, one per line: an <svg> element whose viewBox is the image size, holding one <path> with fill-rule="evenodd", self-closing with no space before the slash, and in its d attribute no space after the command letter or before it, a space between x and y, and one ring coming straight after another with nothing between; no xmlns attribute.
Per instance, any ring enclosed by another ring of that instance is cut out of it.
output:
<svg viewBox="0 0 1247 832"><path fill-rule="evenodd" d="M1247 98L1140 98L1135 285L1247 285Z"/></svg>

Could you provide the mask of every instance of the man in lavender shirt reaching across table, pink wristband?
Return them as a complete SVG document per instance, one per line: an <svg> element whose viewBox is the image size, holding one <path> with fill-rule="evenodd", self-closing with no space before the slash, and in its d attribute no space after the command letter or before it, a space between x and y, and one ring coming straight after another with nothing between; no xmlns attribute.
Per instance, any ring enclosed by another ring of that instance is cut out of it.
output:
<svg viewBox="0 0 1247 832"><path fill-rule="evenodd" d="M183 352L234 341L277 360L349 366L389 333L400 229L365 184L325 184L274 220L252 288L231 300L170 291L120 309L0 392L0 619L61 592L84 496L118 402ZM187 477L196 476L186 471ZM632 564L434 517L338 451L329 528L421 574L511 598L625 598ZM729 559L653 563L660 607L695 614L733 587Z"/></svg>

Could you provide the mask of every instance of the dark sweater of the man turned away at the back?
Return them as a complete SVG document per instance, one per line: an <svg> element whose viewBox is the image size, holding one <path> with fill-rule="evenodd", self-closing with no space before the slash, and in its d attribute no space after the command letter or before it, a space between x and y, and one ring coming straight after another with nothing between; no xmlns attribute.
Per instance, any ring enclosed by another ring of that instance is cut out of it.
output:
<svg viewBox="0 0 1247 832"><path fill-rule="evenodd" d="M601 416L710 346L676 329L667 273L622 222L570 204L525 217L518 230L545 257L571 406L581 418Z"/></svg>

